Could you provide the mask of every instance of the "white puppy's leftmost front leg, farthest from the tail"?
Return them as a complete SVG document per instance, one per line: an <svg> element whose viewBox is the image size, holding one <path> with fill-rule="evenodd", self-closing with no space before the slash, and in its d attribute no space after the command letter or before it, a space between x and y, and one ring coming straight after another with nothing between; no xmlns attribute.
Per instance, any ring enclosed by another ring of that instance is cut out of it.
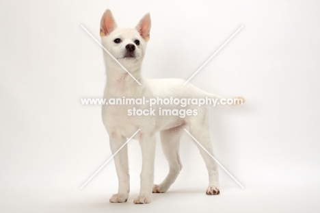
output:
<svg viewBox="0 0 320 213"><path fill-rule="evenodd" d="M112 153L115 153L124 143L126 138L123 136L110 136L110 148ZM129 164L128 164L128 149L124 146L115 156L116 171L118 175L119 188L118 193L112 195L111 203L124 203L129 197L130 179L129 179Z"/></svg>

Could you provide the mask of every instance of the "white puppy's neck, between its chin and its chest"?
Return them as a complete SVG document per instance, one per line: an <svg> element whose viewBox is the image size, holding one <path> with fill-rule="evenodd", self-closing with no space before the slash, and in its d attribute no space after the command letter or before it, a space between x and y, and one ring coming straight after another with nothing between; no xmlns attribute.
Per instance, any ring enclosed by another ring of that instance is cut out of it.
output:
<svg viewBox="0 0 320 213"><path fill-rule="evenodd" d="M127 68L127 70L137 79L138 82L142 82L141 66L136 68ZM119 64L112 64L112 66L106 66L107 71L107 84L105 87L105 95L112 97L133 97L133 95L139 95L139 91L142 89L129 73Z"/></svg>

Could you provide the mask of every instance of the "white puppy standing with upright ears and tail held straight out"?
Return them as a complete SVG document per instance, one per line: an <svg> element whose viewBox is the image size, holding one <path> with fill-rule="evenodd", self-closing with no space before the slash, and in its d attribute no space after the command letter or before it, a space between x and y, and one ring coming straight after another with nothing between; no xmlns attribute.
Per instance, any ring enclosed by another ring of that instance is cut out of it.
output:
<svg viewBox="0 0 320 213"><path fill-rule="evenodd" d="M133 29L119 28L110 10L106 10L101 18L100 35L103 46L114 56L142 85L135 82L124 69L104 52L107 69L107 85L105 99L111 98L141 98L141 97L178 97L199 98L213 95L185 83L182 79L144 79L141 75L142 60L146 45L150 38L150 14L146 14ZM243 99L241 99L243 100ZM244 100L243 100L244 101ZM183 109L180 105L157 105L159 108ZM189 132L202 146L213 155L209 134L209 106L187 105L184 109L197 110L196 116L129 116L131 105L103 105L103 123L110 138L111 151L115 153L130 138L137 129L141 129L135 139L139 140L142 149L142 173L139 196L134 203L150 203L152 192L166 192L181 171L179 158L179 140L182 130L189 127ZM135 105L137 109L147 109L148 105ZM168 160L170 172L159 185L154 185L155 167L155 133L160 131L163 152ZM219 195L217 164L202 148L200 153L209 173L207 195ZM129 164L127 147L124 146L114 157L118 175L118 193L110 198L110 202L126 202L129 197Z"/></svg>

